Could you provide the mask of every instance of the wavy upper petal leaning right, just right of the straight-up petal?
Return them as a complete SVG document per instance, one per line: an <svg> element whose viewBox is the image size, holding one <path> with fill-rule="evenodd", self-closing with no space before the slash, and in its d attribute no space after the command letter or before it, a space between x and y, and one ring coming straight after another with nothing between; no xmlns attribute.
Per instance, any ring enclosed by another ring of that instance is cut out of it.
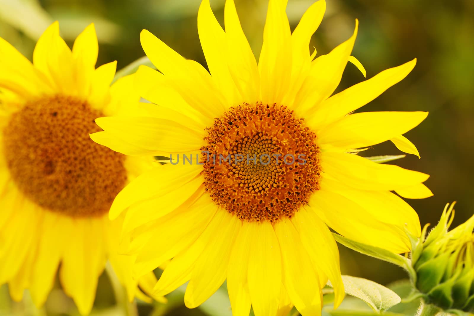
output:
<svg viewBox="0 0 474 316"><path fill-rule="evenodd" d="M292 104L306 76L311 69L310 40L321 23L326 11L326 1L313 3L303 14L298 26L292 33L292 73L291 86L283 104Z"/></svg>

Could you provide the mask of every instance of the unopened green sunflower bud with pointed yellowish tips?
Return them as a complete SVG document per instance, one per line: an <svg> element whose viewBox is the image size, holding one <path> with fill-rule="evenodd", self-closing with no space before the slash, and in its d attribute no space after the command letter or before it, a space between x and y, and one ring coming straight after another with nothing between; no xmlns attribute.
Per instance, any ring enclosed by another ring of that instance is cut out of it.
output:
<svg viewBox="0 0 474 316"><path fill-rule="evenodd" d="M474 311L474 216L448 231L454 204L446 205L437 226L412 240L415 286L425 304L445 311Z"/></svg>

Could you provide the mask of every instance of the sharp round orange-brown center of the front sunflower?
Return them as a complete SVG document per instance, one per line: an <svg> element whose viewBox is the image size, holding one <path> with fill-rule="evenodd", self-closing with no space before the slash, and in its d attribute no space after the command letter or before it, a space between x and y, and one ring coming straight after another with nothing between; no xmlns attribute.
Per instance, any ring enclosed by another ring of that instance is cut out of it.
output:
<svg viewBox="0 0 474 316"><path fill-rule="evenodd" d="M292 215L319 189L316 135L284 106L243 104L207 129L204 186L228 212L247 221Z"/></svg>

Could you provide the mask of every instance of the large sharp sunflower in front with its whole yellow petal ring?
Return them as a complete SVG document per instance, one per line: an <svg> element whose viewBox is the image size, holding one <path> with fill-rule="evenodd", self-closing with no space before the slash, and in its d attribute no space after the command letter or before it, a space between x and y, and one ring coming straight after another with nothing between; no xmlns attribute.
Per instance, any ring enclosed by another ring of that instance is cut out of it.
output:
<svg viewBox="0 0 474 316"><path fill-rule="evenodd" d="M355 61L357 21L346 42L314 59L310 38L326 4L312 4L291 32L286 2L269 1L257 63L234 1L226 2L224 31L203 0L198 31L210 73L142 31L159 70L137 72L149 115L98 118L104 131L91 135L120 153L168 157L125 187L109 216L126 214L123 247L136 255L136 277L172 259L154 293L189 281L190 308L227 280L233 315L247 316L251 307L256 316L285 315L293 304L302 315L319 315L328 280L336 306L344 297L328 226L396 253L410 250L405 229L420 235L416 212L398 195L430 196L422 184L428 175L355 153L391 140L418 154L402 134L427 113L347 115L416 61L332 95Z"/></svg>

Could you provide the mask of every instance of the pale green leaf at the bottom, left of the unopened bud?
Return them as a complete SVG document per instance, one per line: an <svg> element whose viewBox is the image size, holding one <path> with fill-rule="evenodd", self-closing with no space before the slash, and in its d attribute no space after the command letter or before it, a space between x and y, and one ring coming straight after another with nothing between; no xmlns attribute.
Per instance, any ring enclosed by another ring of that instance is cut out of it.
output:
<svg viewBox="0 0 474 316"><path fill-rule="evenodd" d="M348 275L343 275L342 281L347 294L362 299L376 312L384 312L401 301L397 293L374 281ZM332 286L330 281L328 285Z"/></svg>

